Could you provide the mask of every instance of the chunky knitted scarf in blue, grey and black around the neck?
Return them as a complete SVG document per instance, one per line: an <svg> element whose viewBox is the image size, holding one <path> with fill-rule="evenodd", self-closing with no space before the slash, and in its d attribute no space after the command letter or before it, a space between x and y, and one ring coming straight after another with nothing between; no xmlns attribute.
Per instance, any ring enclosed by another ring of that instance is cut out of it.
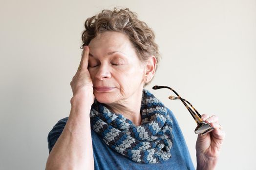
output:
<svg viewBox="0 0 256 170"><path fill-rule="evenodd" d="M166 107L143 89L140 113L142 124L136 126L95 100L90 112L91 127L110 148L132 161L152 164L168 160L172 120Z"/></svg>

